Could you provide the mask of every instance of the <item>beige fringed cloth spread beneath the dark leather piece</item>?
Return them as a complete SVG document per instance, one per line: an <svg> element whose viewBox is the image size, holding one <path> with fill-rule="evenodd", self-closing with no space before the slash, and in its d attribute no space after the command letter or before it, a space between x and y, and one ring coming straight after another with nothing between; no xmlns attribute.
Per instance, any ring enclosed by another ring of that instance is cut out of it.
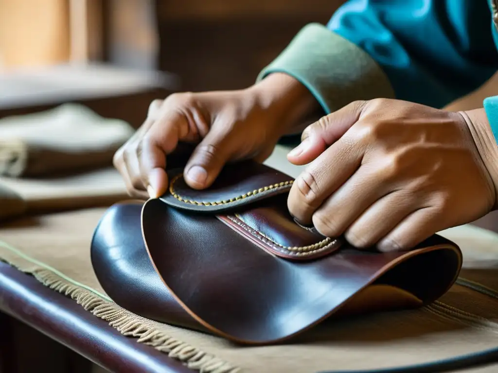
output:
<svg viewBox="0 0 498 373"><path fill-rule="evenodd" d="M422 309L330 319L288 344L240 347L218 337L146 320L114 304L99 285L89 255L92 232L104 211L96 208L25 217L4 225L0 258L72 297L125 335L193 370L288 373L392 367L498 345L498 299L490 290L498 289L498 270L486 268L498 258L494 233L468 226L443 232L463 243L467 264L478 268L465 270L463 276L479 280L487 294L455 285L440 301ZM480 371L494 372L496 368Z"/></svg>

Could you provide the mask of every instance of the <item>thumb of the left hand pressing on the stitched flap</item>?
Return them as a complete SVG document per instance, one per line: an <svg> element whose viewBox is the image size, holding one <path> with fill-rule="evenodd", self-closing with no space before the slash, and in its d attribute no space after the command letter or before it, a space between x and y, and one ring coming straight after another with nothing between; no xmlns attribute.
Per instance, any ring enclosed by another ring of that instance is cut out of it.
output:
<svg viewBox="0 0 498 373"><path fill-rule="evenodd" d="M208 132L185 166L185 182L194 189L211 186L232 155L231 143L222 134Z"/></svg>

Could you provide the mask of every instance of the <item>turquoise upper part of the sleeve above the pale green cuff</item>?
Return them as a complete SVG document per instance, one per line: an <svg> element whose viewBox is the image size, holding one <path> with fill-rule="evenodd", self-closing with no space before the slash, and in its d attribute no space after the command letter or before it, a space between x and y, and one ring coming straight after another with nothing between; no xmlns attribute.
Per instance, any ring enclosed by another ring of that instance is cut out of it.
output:
<svg viewBox="0 0 498 373"><path fill-rule="evenodd" d="M397 98L442 107L498 69L488 0L349 0L327 27L380 65Z"/></svg>

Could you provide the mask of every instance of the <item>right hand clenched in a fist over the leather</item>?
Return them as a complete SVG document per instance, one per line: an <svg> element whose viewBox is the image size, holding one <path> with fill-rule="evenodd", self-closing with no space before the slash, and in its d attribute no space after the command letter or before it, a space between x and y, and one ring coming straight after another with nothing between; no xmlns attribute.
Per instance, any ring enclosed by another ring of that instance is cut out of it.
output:
<svg viewBox="0 0 498 373"><path fill-rule="evenodd" d="M465 112L390 99L353 102L306 128L289 153L294 164L311 162L292 186L289 210L356 247L410 249L495 205L492 171L475 142L479 131Z"/></svg>

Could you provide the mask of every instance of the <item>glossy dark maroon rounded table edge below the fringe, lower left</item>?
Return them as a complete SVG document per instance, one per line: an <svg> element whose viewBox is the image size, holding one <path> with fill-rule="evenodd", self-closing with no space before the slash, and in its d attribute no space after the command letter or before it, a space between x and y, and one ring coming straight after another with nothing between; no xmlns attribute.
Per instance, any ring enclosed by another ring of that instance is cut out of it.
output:
<svg viewBox="0 0 498 373"><path fill-rule="evenodd" d="M5 263L0 263L0 310L110 372L192 372Z"/></svg>

